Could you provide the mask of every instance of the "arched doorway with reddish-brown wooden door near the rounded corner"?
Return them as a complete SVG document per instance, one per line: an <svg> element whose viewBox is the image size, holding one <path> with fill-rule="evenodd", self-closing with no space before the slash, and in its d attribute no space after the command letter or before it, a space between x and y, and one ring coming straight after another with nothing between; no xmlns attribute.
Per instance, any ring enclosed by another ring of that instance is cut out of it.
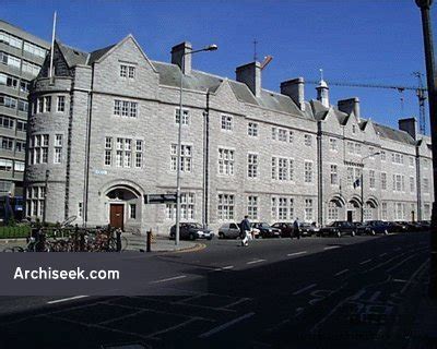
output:
<svg viewBox="0 0 437 349"><path fill-rule="evenodd" d="M107 190L108 222L111 227L130 230L141 224L141 195L128 185L115 185Z"/></svg>

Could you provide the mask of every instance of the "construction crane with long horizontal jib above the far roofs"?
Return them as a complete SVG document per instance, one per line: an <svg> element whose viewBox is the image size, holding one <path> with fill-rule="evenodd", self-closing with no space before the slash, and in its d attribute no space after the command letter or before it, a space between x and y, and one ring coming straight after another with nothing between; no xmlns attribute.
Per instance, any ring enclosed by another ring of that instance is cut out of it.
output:
<svg viewBox="0 0 437 349"><path fill-rule="evenodd" d="M426 100L426 88L423 86L422 73L414 72L414 76L418 80L418 86L401 86L401 85L381 85L381 84L362 84L362 83L343 83L343 82L329 82L332 86L345 86L345 87L367 87L367 88L388 88L395 89L401 95L406 91L415 91L418 98L418 124L422 134L425 134L426 130L426 118L425 118L425 100ZM307 84L318 85L320 81L306 81ZM403 96L401 96L401 108L403 109Z"/></svg>

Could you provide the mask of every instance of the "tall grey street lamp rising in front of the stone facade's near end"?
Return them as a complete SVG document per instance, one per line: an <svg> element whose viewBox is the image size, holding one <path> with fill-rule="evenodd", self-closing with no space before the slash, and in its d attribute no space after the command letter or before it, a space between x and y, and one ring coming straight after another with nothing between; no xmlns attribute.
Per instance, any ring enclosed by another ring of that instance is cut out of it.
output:
<svg viewBox="0 0 437 349"><path fill-rule="evenodd" d="M178 146L177 146L177 164L176 164L176 236L175 236L175 244L179 244L179 225L180 225L180 148L181 148L181 133L182 133L182 85L184 85L184 63L186 55L194 55L203 51L215 51L218 47L216 45L210 45L202 49L194 51L182 52L182 57L180 60L180 88L179 88L179 128L178 128Z"/></svg>

